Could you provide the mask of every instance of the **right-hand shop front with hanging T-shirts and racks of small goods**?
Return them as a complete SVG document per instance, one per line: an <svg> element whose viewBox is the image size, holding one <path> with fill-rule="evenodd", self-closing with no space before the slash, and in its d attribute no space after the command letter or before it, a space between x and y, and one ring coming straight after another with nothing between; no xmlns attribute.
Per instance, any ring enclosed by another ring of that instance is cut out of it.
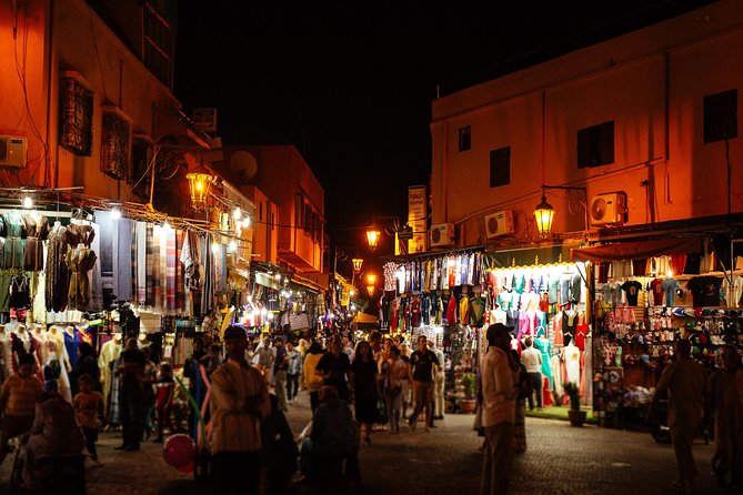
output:
<svg viewBox="0 0 743 495"><path fill-rule="evenodd" d="M593 405L603 425L645 424L676 341L691 340L694 358L707 372L722 344L743 343L741 271L725 262L732 254L724 249L729 239L671 234L572 251L573 261L595 267L589 301L595 329Z"/></svg>

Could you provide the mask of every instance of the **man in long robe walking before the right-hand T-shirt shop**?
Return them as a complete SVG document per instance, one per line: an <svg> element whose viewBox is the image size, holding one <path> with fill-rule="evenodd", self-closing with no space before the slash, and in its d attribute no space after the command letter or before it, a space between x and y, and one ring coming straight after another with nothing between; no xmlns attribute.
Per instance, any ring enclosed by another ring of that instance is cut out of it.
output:
<svg viewBox="0 0 743 495"><path fill-rule="evenodd" d="M673 487L684 493L694 493L697 475L692 443L702 421L704 385L704 367L692 360L692 343L687 340L676 342L676 360L663 370L653 402L659 393L669 391L667 424L679 469Z"/></svg>

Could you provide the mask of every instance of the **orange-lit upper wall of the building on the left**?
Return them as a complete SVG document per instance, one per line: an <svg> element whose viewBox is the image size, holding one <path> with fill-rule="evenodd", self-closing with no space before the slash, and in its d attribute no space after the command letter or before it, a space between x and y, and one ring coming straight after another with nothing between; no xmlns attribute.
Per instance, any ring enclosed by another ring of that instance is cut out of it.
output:
<svg viewBox="0 0 743 495"><path fill-rule="evenodd" d="M0 60L13 60L12 34L9 20L12 2L0 2ZM139 59L117 38L111 29L82 0L49 3L42 0L23 2L29 9L29 42L27 53L27 85L29 105L37 128L46 135L46 115L49 108L50 186L84 186L84 194L127 199L131 184L117 181L100 172L101 107L114 105L132 120L132 132L147 134L153 140L179 129L180 103ZM141 9L141 8L140 8ZM133 12L133 16L141 13ZM51 23L44 23L51 19ZM19 10L19 26L24 23ZM51 62L43 51L39 33L44 27ZM21 31L19 31L19 39ZM19 43L20 44L20 43ZM19 47L20 49L20 47ZM50 69L48 69L48 67ZM13 70L10 70L13 69ZM93 91L93 148L91 156L78 156L57 147L58 90L61 71L79 73ZM51 87L51 100L46 100L46 87ZM0 72L0 133L22 134L29 139L29 166L21 176L30 178L43 147L28 119L23 117L23 99L14 65ZM13 131L14 132L11 132ZM182 132L182 131L181 131ZM6 180L0 175L0 181ZM40 184L40 180L36 180Z"/></svg>

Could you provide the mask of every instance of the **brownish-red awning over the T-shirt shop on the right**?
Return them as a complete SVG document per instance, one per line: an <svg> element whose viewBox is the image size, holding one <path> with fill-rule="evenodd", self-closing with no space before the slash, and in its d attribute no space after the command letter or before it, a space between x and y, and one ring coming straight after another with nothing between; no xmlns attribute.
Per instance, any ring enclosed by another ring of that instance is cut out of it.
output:
<svg viewBox="0 0 743 495"><path fill-rule="evenodd" d="M703 239L700 235L675 236L580 248L570 250L570 259L572 261L609 262L639 260L677 253L694 253L702 251Z"/></svg>

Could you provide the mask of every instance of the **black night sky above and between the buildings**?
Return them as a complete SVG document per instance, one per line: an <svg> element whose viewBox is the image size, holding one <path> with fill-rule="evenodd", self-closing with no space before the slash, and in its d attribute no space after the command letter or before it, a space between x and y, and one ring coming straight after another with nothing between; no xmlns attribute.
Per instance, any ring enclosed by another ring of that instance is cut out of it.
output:
<svg viewBox="0 0 743 495"><path fill-rule="evenodd" d="M275 4L280 3L280 4ZM224 144L294 144L325 189L328 231L361 242L426 184L431 101L709 0L181 1L174 93L218 109ZM500 6L509 7L500 7Z"/></svg>

